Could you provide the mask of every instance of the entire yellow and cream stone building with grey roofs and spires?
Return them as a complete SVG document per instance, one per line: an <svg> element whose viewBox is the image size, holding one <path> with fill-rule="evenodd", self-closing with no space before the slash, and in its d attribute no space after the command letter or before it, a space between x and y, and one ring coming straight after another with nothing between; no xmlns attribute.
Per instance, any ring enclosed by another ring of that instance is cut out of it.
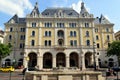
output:
<svg viewBox="0 0 120 80"><path fill-rule="evenodd" d="M84 3L80 13L72 8L47 8L38 4L24 18L14 15L5 23L5 43L13 45L9 59L18 66L51 69L55 67L113 66L116 59L105 57L114 40L114 24L103 15L94 18ZM109 61L112 63L106 63Z"/></svg>

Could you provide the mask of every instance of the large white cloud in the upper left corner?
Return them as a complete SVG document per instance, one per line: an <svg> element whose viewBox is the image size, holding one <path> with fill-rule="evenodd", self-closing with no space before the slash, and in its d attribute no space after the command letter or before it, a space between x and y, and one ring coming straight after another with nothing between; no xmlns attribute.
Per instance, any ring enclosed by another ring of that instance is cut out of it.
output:
<svg viewBox="0 0 120 80"><path fill-rule="evenodd" d="M0 0L0 12L22 17L25 15L25 10L33 8L29 0Z"/></svg>

